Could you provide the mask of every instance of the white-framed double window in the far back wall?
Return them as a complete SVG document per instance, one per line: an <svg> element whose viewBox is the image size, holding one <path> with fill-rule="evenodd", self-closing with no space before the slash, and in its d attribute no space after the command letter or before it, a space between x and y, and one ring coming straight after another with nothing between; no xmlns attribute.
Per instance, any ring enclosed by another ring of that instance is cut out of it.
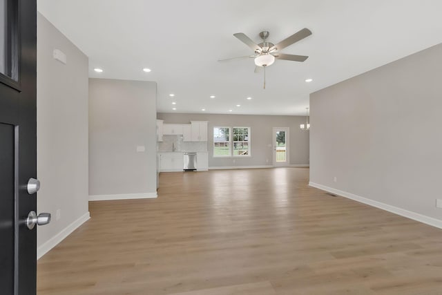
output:
<svg viewBox="0 0 442 295"><path fill-rule="evenodd" d="M213 127L213 157L249 155L250 127Z"/></svg>

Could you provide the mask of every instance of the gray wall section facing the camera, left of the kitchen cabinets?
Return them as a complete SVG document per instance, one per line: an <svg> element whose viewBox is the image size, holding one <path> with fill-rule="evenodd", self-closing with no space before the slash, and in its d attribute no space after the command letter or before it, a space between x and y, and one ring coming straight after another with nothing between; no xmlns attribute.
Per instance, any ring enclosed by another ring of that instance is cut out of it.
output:
<svg viewBox="0 0 442 295"><path fill-rule="evenodd" d="M156 194L155 117L155 82L89 79L90 196Z"/></svg>

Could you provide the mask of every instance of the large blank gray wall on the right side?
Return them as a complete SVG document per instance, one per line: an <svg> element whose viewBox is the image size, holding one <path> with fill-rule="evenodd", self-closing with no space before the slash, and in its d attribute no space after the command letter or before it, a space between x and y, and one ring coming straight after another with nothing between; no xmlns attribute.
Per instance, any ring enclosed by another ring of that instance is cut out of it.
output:
<svg viewBox="0 0 442 295"><path fill-rule="evenodd" d="M441 77L439 44L312 93L310 181L442 220Z"/></svg>

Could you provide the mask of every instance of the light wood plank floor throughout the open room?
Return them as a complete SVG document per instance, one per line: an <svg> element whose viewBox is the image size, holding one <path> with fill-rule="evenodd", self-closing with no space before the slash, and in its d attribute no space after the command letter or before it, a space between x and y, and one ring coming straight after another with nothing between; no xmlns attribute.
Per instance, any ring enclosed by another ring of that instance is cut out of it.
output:
<svg viewBox="0 0 442 295"><path fill-rule="evenodd" d="M157 199L90 202L39 260L38 294L442 294L441 229L329 196L308 173L162 173Z"/></svg>

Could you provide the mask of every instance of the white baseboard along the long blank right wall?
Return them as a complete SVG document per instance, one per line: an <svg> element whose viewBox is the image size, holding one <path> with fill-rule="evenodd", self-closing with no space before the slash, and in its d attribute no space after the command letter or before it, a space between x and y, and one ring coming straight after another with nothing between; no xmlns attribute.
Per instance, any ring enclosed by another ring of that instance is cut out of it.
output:
<svg viewBox="0 0 442 295"><path fill-rule="evenodd" d="M328 191L329 193L334 193L338 196L343 196L345 198L349 198L379 209L383 209L385 211L389 211L392 213L395 213L397 215L406 217L406 218L410 218L412 220L416 220L419 222L423 222L427 225L431 225L433 227L438 227L439 229L442 229L442 220L436 219L436 218L432 218L429 216L425 216L416 212L412 212L412 211L408 211L399 207L395 207L389 204L385 204L383 202L378 202L375 200L371 200L371 199L367 199L361 196L357 196L353 193L347 193L346 191L340 191L339 189L334 189L332 187L326 187L325 185L322 184L317 184L314 182L309 182L309 186L310 187L316 187L316 189L322 189L323 191Z"/></svg>

